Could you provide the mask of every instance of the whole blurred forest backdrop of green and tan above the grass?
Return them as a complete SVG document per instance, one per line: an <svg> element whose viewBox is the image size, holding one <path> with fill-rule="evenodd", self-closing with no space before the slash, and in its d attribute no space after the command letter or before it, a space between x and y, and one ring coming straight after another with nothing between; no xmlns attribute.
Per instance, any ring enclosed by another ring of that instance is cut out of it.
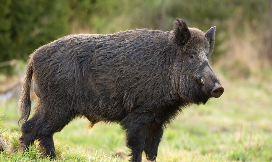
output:
<svg viewBox="0 0 272 162"><path fill-rule="evenodd" d="M33 50L74 33L110 34L136 28L217 26L212 64L249 77L272 68L271 0L0 0L0 62L27 61ZM2 67L1 73L12 74Z"/></svg>

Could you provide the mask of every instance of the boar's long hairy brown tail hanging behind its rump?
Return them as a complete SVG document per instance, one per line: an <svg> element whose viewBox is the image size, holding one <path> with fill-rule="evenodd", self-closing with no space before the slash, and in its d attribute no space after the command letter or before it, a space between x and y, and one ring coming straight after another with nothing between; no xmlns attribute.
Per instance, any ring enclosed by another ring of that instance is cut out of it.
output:
<svg viewBox="0 0 272 162"><path fill-rule="evenodd" d="M33 63L32 63L32 59L30 59L26 67L25 78L21 88L20 99L18 102L19 110L21 112L21 117L18 121L18 124L22 124L26 122L30 115L30 109L31 109L30 87L31 87L32 75L33 75Z"/></svg>

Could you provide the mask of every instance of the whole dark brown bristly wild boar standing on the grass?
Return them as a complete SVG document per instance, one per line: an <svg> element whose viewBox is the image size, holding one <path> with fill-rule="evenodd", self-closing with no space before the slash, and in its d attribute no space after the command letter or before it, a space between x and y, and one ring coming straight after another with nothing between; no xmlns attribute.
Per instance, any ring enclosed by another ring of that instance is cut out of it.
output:
<svg viewBox="0 0 272 162"><path fill-rule="evenodd" d="M53 134L86 117L90 127L120 123L131 161L141 161L143 151L156 161L163 130L175 116L187 105L205 104L223 93L206 57L214 49L214 34L215 27L205 34L177 18L171 32L68 35L36 49L19 102L24 151L38 140L56 158ZM31 80L38 97L27 120Z"/></svg>

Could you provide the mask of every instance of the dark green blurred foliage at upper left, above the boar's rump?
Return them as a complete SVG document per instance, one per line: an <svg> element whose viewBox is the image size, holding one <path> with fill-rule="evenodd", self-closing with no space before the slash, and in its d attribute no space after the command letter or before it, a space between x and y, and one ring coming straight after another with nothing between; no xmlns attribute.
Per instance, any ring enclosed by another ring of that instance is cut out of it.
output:
<svg viewBox="0 0 272 162"><path fill-rule="evenodd" d="M26 60L34 49L65 35L69 17L63 0L1 0L0 61Z"/></svg>

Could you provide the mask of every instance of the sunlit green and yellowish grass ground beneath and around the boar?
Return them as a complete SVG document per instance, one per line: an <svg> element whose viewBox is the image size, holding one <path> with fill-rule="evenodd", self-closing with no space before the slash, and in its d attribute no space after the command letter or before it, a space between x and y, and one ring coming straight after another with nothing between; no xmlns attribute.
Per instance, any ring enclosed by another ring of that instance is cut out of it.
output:
<svg viewBox="0 0 272 162"><path fill-rule="evenodd" d="M165 131L157 161L272 161L272 86L262 79L232 80L220 76L225 92L205 105L184 110ZM8 131L2 134L9 148L18 150L16 100L0 103ZM129 149L119 125L77 119L55 133L59 161L127 161L113 153ZM35 144L29 155L1 154L0 161L49 161ZM143 160L145 155L143 153Z"/></svg>

